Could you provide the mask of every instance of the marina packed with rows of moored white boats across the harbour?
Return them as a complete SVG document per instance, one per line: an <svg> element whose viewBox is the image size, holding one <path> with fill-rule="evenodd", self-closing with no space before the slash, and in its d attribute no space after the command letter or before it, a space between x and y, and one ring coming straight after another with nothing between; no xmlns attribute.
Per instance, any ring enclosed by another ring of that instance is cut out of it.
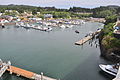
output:
<svg viewBox="0 0 120 80"><path fill-rule="evenodd" d="M69 22L69 23L68 23ZM37 24L35 24L37 23ZM69 20L69 19L60 19L60 20L40 20L34 23L25 23L25 22L16 22L15 27L19 28L19 27L23 27L25 29L35 29L35 30L40 30L40 31L52 31L53 27L59 27L62 29L65 28L72 28L75 27L76 25L82 25L85 24L85 21L83 20ZM44 27L43 27L44 26Z"/></svg>

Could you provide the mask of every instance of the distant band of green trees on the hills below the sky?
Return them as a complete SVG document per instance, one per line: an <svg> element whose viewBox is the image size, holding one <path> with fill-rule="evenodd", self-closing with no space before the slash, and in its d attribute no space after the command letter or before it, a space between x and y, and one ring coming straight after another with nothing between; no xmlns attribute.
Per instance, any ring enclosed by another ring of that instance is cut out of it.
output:
<svg viewBox="0 0 120 80"><path fill-rule="evenodd" d="M36 7L28 5L0 5L0 12L5 12L5 10L17 10L19 13L24 11L31 11L34 15L37 12L43 14L53 14L54 18L82 18L82 17L97 17L97 18L107 18L112 15L120 14L119 6L101 6L97 8L81 8L81 7L70 7L69 9L58 9L53 7ZM90 14L88 14L90 13Z"/></svg>

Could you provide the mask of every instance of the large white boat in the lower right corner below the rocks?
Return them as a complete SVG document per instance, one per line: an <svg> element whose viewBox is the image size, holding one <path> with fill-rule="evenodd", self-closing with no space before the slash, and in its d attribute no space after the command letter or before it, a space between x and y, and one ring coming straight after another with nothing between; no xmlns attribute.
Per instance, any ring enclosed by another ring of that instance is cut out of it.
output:
<svg viewBox="0 0 120 80"><path fill-rule="evenodd" d="M115 64L115 65L104 65L104 64L100 64L99 67L106 73L109 73L113 76L116 76L118 73L118 68L119 65Z"/></svg>

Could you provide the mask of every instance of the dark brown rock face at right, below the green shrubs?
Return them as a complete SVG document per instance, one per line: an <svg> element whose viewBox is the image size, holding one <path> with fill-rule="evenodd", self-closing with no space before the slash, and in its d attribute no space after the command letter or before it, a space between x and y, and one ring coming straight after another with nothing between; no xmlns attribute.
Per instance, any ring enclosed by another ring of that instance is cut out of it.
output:
<svg viewBox="0 0 120 80"><path fill-rule="evenodd" d="M99 35L99 44L100 44L100 51L101 51L101 57L112 61L112 62L120 62L120 48L114 47L107 49L106 46L102 43L102 39L104 32L102 31Z"/></svg>

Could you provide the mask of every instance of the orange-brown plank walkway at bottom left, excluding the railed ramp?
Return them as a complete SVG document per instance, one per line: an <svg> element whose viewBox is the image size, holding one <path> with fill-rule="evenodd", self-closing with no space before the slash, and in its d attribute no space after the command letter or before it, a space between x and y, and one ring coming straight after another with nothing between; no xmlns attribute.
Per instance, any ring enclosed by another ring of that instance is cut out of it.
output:
<svg viewBox="0 0 120 80"><path fill-rule="evenodd" d="M23 77L34 79L34 80L57 80L47 76L43 76L43 75L41 76L40 74L36 74L15 66L9 66L7 71L9 71L10 73L17 74L18 76L23 76Z"/></svg>

